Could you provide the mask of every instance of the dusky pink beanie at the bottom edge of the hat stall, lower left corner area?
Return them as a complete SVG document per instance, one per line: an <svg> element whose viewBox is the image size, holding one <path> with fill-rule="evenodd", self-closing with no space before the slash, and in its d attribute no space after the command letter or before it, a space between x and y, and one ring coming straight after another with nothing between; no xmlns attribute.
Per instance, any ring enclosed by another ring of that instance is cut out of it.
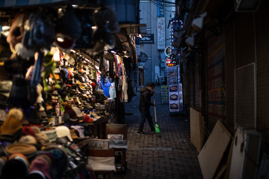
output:
<svg viewBox="0 0 269 179"><path fill-rule="evenodd" d="M29 171L30 173L40 171L47 179L51 179L49 175L50 173L49 163L42 157L37 157L32 161Z"/></svg>

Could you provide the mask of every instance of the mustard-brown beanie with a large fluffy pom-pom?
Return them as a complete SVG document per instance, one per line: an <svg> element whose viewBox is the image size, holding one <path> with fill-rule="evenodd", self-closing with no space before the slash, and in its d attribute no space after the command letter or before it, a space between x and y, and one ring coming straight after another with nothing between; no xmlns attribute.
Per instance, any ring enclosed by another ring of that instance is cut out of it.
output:
<svg viewBox="0 0 269 179"><path fill-rule="evenodd" d="M0 126L0 134L14 135L19 129L22 129L22 119L23 113L20 109L10 109L6 119Z"/></svg>

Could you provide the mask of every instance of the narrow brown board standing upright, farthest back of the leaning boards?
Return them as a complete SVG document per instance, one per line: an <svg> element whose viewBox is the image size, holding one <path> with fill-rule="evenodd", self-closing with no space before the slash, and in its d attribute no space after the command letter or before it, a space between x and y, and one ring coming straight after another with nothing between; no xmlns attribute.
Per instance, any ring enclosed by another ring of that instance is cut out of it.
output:
<svg viewBox="0 0 269 179"><path fill-rule="evenodd" d="M200 153L204 145L204 120L200 108L190 108L191 142Z"/></svg>

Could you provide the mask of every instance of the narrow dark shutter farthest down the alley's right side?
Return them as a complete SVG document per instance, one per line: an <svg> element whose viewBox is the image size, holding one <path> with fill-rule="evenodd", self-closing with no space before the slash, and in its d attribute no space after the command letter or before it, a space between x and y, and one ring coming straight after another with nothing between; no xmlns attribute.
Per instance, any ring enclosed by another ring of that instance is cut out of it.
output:
<svg viewBox="0 0 269 179"><path fill-rule="evenodd" d="M200 73L199 73L199 53L195 55L194 61L194 94L195 94L195 107L201 107L201 90L200 90Z"/></svg>

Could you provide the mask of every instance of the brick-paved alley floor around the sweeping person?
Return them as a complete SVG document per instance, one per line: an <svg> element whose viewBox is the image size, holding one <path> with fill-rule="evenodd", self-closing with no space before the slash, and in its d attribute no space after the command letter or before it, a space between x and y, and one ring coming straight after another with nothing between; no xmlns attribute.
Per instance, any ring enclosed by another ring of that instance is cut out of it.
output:
<svg viewBox="0 0 269 179"><path fill-rule="evenodd" d="M128 124L128 170L117 179L202 179L198 152L189 140L187 117L170 116L168 104L161 104L160 87L155 88L156 116L161 134L137 135L140 112L139 93L126 105ZM153 97L151 98L153 101ZM154 118L154 108L151 107ZM153 122L154 123L154 122ZM145 122L144 132L150 127ZM161 148L162 147L162 148Z"/></svg>

